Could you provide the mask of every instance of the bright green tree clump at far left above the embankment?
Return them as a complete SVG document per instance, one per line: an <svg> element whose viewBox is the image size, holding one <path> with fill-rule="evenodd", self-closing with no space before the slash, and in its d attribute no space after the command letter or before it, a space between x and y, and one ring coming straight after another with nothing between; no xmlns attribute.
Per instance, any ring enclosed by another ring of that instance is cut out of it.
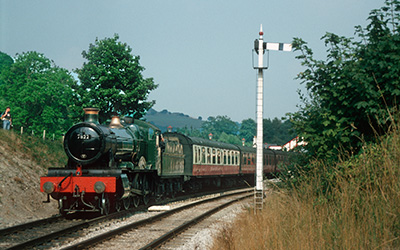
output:
<svg viewBox="0 0 400 250"><path fill-rule="evenodd" d="M71 126L72 76L43 54L18 54L1 72L2 97L11 107L13 125L25 131L60 136ZM5 108L5 107L4 107Z"/></svg>

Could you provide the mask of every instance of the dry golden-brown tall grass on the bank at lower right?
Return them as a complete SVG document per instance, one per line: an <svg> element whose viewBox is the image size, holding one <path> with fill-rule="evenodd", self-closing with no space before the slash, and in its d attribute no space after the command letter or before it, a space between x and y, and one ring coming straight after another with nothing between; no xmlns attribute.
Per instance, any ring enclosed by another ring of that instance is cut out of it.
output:
<svg viewBox="0 0 400 250"><path fill-rule="evenodd" d="M313 164L307 181L221 229L212 249L400 249L398 130L333 168Z"/></svg>

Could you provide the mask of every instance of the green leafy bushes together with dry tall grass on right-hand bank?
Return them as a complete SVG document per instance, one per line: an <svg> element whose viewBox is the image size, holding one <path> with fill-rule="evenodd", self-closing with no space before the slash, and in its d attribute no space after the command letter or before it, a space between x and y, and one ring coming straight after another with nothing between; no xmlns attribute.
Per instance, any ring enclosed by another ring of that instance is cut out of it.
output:
<svg viewBox="0 0 400 250"><path fill-rule="evenodd" d="M326 61L295 39L309 95L291 120L306 157L213 249L400 248L400 2L368 19L359 41L326 34Z"/></svg>

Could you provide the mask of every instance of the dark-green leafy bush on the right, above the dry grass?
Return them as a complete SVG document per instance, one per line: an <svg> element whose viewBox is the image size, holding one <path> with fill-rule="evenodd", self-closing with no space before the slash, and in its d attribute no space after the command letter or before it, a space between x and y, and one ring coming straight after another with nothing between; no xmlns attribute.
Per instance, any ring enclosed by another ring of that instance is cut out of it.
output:
<svg viewBox="0 0 400 250"><path fill-rule="evenodd" d="M294 129L307 141L310 157L336 159L357 153L362 138L374 140L390 126L400 100L400 2L388 0L373 10L359 40L327 33L326 61L316 60L302 39L293 48L307 69L298 75L308 96L290 114Z"/></svg>

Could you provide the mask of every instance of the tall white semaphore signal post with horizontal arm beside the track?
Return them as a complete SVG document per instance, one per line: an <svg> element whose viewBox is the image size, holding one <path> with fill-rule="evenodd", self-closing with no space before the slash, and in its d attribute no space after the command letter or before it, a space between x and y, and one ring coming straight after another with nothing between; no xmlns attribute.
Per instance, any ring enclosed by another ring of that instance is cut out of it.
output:
<svg viewBox="0 0 400 250"><path fill-rule="evenodd" d="M254 50L258 54L258 66L253 68L258 70L257 73L257 155L256 155L256 188L254 191L254 209L262 210L263 208L263 89L264 76L263 70L268 69L268 64L264 67L264 53L269 50L291 51L292 45L288 43L267 43L264 42L264 32L262 25L260 27L259 39L254 41ZM254 55L254 53L253 53Z"/></svg>

